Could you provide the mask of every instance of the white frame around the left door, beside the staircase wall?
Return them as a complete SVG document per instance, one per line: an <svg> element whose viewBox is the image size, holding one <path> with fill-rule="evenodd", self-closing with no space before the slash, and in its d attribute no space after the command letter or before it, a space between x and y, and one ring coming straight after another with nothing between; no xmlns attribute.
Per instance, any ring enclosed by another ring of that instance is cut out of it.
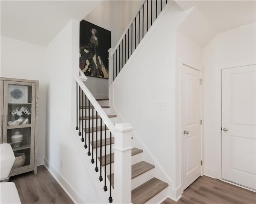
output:
<svg viewBox="0 0 256 204"><path fill-rule="evenodd" d="M182 69L182 66L186 66L186 67L190 67L191 69L195 69L196 71L199 71L200 72L200 77L201 77L201 81L202 81L202 84L201 84L201 87L200 87L200 91L201 91L201 120L202 120L202 125L201 125L201 161L202 161L202 166L201 166L201 176L203 176L204 175L204 131L203 131L203 123L204 123L204 120L203 120L203 82L204 82L204 80L203 80L203 70L200 70L200 69L196 69L196 68L194 68L194 67L192 67L192 66L190 66L190 65L187 65L187 64L185 64L185 63L180 63L180 70L179 70L179 72L180 72L180 83L179 83L179 91L181 91L180 90L180 87L181 87L181 69ZM183 139L182 139L182 137L184 137L184 135L183 135L183 132L182 132L182 127L181 127L181 92L180 92L180 96L179 96L179 102L180 102L180 104L179 104L179 106L180 106L180 111L179 111L179 115L180 115L180 117L179 117L179 124L180 124L180 127L179 127L179 134L180 134L180 158L181 158L181 162L180 162L180 169L181 169L181 174L180 174L180 177L181 177L181 188L182 188L182 191L184 190L184 178L183 178L183 172L184 172L184 169L183 169L183 161L184 161L184 151L183 151ZM182 192L183 193L183 192Z"/></svg>

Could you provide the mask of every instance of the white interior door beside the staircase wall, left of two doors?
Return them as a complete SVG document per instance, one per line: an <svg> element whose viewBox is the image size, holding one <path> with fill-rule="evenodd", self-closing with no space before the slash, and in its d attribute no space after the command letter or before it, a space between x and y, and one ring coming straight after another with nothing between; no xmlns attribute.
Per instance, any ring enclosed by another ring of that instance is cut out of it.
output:
<svg viewBox="0 0 256 204"><path fill-rule="evenodd" d="M181 70L182 186L201 175L201 73L186 65Z"/></svg>

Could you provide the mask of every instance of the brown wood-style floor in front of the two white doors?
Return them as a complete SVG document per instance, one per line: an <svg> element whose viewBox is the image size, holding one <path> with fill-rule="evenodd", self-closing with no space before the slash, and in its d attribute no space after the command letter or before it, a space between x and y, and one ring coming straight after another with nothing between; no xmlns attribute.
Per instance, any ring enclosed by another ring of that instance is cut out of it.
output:
<svg viewBox="0 0 256 204"><path fill-rule="evenodd" d="M178 202L162 204L256 204L256 193L210 177L199 177L184 190Z"/></svg>

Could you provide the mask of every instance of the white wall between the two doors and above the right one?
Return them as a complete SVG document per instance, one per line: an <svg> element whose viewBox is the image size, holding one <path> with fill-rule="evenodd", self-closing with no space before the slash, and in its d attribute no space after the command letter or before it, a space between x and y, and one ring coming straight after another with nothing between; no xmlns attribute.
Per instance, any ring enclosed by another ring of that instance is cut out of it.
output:
<svg viewBox="0 0 256 204"><path fill-rule="evenodd" d="M221 179L221 69L256 63L256 24L218 34L203 50L205 175Z"/></svg>

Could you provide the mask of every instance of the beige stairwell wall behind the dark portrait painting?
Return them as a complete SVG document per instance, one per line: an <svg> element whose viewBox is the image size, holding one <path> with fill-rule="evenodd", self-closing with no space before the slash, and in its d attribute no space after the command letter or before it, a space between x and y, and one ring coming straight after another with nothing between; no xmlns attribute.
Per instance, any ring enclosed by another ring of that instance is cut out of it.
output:
<svg viewBox="0 0 256 204"><path fill-rule="evenodd" d="M142 2L141 0L102 1L84 20L111 31L111 47L114 48ZM108 79L87 78L85 84L94 97L108 98Z"/></svg>

